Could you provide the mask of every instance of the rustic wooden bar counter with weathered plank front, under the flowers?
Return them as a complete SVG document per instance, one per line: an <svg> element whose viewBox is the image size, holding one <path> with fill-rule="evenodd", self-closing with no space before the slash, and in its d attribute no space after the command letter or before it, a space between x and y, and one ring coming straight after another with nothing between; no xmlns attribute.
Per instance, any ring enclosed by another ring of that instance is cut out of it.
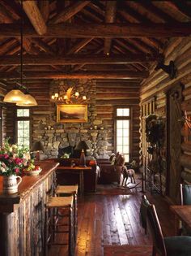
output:
<svg viewBox="0 0 191 256"><path fill-rule="evenodd" d="M41 162L38 176L23 176L18 193L2 194L0 176L0 255L43 255L45 203L59 163Z"/></svg>

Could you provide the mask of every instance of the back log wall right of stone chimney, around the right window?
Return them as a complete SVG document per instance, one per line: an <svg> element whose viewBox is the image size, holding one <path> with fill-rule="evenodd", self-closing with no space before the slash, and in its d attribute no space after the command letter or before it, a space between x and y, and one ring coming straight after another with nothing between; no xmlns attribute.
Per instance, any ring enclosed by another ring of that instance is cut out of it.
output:
<svg viewBox="0 0 191 256"><path fill-rule="evenodd" d="M129 80L97 80L96 111L108 130L109 150L114 151L114 116L117 106L130 107L132 110L131 154L130 158L138 163L139 158L139 88L138 82Z"/></svg>

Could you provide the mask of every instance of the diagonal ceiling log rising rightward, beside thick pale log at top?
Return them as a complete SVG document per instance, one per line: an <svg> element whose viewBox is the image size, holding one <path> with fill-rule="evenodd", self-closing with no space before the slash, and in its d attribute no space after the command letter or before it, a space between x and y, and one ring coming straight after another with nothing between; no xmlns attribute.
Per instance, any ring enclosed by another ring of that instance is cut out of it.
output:
<svg viewBox="0 0 191 256"><path fill-rule="evenodd" d="M51 24L58 24L69 20L76 13L81 11L83 7L86 7L90 1L78 1L74 2L70 6L66 7L61 13L56 15L53 20L51 20Z"/></svg>

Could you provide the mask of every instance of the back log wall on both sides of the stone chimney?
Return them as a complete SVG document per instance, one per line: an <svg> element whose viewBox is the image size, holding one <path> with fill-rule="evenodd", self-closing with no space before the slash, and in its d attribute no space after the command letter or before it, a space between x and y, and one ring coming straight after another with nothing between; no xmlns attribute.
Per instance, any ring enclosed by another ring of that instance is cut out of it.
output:
<svg viewBox="0 0 191 256"><path fill-rule="evenodd" d="M32 141L41 139L40 123L53 124L56 120L56 106L49 102L49 80L30 80L26 83L32 96L36 98L38 106L31 107ZM96 119L102 121L104 131L107 132L108 152L114 150L114 111L116 106L129 106L133 113L132 122L132 154L138 162L139 155L139 88L138 81L128 80L96 80ZM94 103L95 104L95 103ZM7 136L15 141L15 106L9 104L7 112ZM50 124L50 125L52 125ZM45 131L44 131L45 132Z"/></svg>

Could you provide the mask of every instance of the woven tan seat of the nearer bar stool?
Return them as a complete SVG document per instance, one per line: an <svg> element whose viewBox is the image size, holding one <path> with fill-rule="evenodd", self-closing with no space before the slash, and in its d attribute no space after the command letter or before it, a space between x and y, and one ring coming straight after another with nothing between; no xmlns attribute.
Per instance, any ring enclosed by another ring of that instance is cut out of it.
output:
<svg viewBox="0 0 191 256"><path fill-rule="evenodd" d="M70 207L73 205L73 197L49 197L49 202L46 206L53 207Z"/></svg>

